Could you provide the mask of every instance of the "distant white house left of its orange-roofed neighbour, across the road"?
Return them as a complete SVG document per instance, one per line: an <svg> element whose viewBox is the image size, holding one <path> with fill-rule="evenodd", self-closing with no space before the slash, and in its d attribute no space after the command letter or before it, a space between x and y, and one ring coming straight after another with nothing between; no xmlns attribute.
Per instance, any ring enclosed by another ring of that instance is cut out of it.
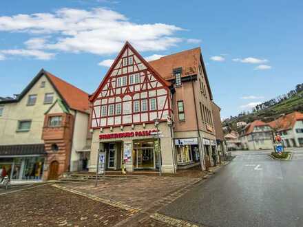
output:
<svg viewBox="0 0 303 227"><path fill-rule="evenodd" d="M270 125L255 120L244 127L240 133L240 140L244 149L248 150L264 150L273 148L273 129Z"/></svg>

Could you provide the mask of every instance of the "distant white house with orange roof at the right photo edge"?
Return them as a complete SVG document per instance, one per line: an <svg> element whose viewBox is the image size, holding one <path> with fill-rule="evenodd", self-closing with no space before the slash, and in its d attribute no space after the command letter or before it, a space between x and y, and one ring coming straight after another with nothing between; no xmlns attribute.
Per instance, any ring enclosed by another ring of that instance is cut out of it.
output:
<svg viewBox="0 0 303 227"><path fill-rule="evenodd" d="M303 114L293 112L269 122L282 137L285 147L303 147Z"/></svg>

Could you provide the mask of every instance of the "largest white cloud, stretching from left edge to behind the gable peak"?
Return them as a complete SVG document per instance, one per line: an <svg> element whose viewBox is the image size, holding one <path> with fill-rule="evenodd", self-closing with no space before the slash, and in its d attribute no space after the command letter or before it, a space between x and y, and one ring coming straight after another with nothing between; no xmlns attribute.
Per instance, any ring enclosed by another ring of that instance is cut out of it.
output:
<svg viewBox="0 0 303 227"><path fill-rule="evenodd" d="M54 13L17 14L0 17L0 31L35 34L25 45L36 50L114 54L125 41L139 51L167 50L184 39L182 30L165 23L132 23L125 15L107 8L61 8ZM48 40L41 36L50 36Z"/></svg>

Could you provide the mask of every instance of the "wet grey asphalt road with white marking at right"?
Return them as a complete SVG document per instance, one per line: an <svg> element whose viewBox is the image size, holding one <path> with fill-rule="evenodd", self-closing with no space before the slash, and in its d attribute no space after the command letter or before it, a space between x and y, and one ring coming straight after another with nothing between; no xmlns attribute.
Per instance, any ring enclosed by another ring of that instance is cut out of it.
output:
<svg viewBox="0 0 303 227"><path fill-rule="evenodd" d="M303 226L303 149L291 161L237 151L207 182L160 213L204 226Z"/></svg>

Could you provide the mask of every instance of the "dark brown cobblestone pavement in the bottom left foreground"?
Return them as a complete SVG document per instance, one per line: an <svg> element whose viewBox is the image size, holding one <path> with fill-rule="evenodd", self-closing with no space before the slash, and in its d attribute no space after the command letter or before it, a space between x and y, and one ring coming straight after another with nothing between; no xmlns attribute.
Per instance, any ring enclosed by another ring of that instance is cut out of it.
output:
<svg viewBox="0 0 303 227"><path fill-rule="evenodd" d="M50 185L0 196L0 226L113 226L127 210Z"/></svg>

